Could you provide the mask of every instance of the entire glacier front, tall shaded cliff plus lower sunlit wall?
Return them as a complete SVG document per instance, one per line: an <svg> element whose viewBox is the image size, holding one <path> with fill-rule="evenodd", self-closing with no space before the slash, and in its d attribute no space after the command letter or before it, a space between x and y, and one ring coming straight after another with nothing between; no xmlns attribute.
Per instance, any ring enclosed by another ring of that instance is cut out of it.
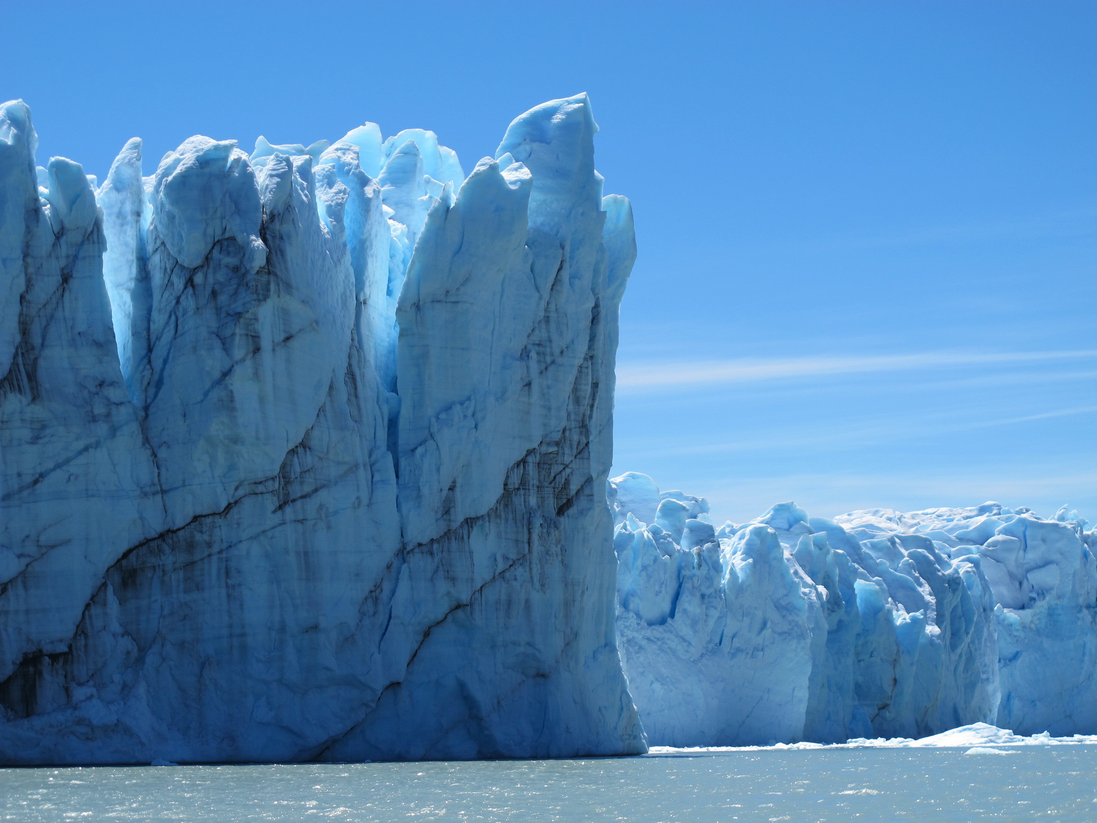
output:
<svg viewBox="0 0 1097 823"><path fill-rule="evenodd" d="M0 106L0 763L1097 733L1076 515L609 478L597 131L134 138L100 185Z"/></svg>

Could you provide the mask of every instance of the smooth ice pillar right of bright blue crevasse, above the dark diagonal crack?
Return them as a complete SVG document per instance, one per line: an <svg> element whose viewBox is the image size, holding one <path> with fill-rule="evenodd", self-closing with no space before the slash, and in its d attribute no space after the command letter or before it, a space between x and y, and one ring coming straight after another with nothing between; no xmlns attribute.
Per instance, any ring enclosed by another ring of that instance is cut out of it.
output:
<svg viewBox="0 0 1097 823"><path fill-rule="evenodd" d="M404 283L400 507L412 544L436 535L443 512L453 528L489 509L510 465L541 439L535 404L511 408L529 391L519 347L543 312L525 247L530 189L524 166L482 160L452 208L431 210ZM478 476L457 482L478 463Z"/></svg>

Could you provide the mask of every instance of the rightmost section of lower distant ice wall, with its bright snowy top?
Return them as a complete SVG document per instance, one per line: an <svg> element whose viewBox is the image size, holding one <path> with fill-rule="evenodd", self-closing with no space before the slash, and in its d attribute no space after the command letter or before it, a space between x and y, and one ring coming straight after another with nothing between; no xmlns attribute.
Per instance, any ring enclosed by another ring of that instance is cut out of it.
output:
<svg viewBox="0 0 1097 823"><path fill-rule="evenodd" d="M1097 532L1085 520L1066 507L1045 520L996 503L837 520L866 546L920 535L953 562L981 566L996 602L996 725L1019 734L1097 732Z"/></svg>

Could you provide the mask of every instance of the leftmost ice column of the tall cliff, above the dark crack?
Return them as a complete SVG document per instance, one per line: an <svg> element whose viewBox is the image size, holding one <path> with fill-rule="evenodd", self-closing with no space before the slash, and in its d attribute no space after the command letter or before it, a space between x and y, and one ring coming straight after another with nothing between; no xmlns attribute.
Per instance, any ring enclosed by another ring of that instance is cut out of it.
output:
<svg viewBox="0 0 1097 823"><path fill-rule="evenodd" d="M36 142L22 101L0 106L0 717L12 721L69 702L77 624L106 567L160 520L94 192L60 157L39 190ZM30 745L8 730L0 741L5 758Z"/></svg>

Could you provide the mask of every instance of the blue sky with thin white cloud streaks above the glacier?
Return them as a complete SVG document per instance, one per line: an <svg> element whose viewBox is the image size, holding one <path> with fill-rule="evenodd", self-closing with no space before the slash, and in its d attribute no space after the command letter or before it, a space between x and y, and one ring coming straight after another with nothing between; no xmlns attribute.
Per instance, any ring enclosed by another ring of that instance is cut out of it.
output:
<svg viewBox="0 0 1097 823"><path fill-rule="evenodd" d="M742 521L986 499L1097 520L1097 4L9 3L0 97L146 173L365 120L466 169L588 91L640 259L615 471ZM18 35L15 33L19 33Z"/></svg>

